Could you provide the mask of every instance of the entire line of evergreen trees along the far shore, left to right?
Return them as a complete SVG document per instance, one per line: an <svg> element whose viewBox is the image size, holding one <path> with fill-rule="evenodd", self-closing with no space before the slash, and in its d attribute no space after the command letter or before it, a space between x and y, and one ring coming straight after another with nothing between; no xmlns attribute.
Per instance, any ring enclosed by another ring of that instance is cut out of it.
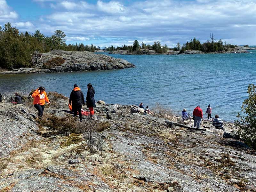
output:
<svg viewBox="0 0 256 192"><path fill-rule="evenodd" d="M2 28L0 26L0 70L3 69L16 69L21 67L33 67L35 65L32 59L36 53L49 52L51 50L61 49L66 51L90 51L100 50L100 47L95 45L81 44L66 44L66 34L62 30L54 31L52 36L45 36L39 30L31 34L28 32L20 33L19 29L13 27L11 23L6 23ZM135 40L132 45L123 45L114 47L104 47L102 50L116 51L127 50L127 53L149 53L150 50L155 50L156 53L166 53L168 50L180 51L186 50L199 50L202 52L216 52L227 51L230 47L236 45L227 44L220 39L218 42L213 34L210 35L210 40L201 44L196 37L190 42L184 43L182 46L177 43L175 47L168 47L166 44L162 45L161 42L156 41L153 45L139 43ZM248 46L248 45L246 45Z"/></svg>

